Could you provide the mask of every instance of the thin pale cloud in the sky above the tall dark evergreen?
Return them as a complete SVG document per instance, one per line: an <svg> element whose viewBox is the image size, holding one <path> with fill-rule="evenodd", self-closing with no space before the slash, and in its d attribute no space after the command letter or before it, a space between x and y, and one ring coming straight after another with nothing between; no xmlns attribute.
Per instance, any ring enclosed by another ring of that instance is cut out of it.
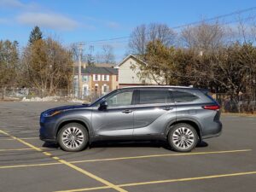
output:
<svg viewBox="0 0 256 192"><path fill-rule="evenodd" d="M17 21L22 25L42 26L56 30L73 30L79 27L79 22L64 15L49 13L25 13L17 17Z"/></svg>

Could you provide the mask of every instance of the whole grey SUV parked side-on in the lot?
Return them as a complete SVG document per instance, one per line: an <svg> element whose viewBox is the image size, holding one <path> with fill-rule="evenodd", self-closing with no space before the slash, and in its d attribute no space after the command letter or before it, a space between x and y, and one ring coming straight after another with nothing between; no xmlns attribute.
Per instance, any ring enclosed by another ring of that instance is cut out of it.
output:
<svg viewBox="0 0 256 192"><path fill-rule="evenodd" d="M80 151L99 140L164 140L188 152L222 130L219 105L206 90L142 86L113 90L96 102L41 113L40 138Z"/></svg>

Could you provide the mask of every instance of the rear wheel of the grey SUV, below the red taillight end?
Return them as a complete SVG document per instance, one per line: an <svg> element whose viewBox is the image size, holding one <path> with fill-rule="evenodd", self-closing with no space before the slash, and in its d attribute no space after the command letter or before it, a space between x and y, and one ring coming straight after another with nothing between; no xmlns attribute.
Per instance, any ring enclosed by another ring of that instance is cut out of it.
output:
<svg viewBox="0 0 256 192"><path fill-rule="evenodd" d="M185 123L174 125L168 134L168 143L177 152L191 151L198 141L199 138L195 128Z"/></svg>

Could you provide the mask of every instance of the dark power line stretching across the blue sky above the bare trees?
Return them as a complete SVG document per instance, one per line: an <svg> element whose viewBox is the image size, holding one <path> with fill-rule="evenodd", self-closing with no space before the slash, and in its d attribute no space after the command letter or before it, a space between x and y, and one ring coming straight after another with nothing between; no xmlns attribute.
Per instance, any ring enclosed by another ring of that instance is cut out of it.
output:
<svg viewBox="0 0 256 192"><path fill-rule="evenodd" d="M218 15L218 16L215 16L215 17L212 17L212 18L209 18L209 19L198 20L198 21L195 21L195 22L191 22L191 23L188 23L188 24L181 25L181 26L173 26L171 28L172 29L178 29L178 28L183 28L185 26L194 26L196 24L200 24L201 21L208 22L208 21L212 21L212 20L219 20L219 19L223 19L223 18L232 16L232 15L240 15L242 13L253 11L255 9L256 9L256 7L251 7L251 8L248 8L248 9L241 9L241 10L237 10L235 12L231 12L230 14ZM124 37L119 37L119 38L102 38L102 39L98 39L98 40L87 41L86 43L98 43L98 42L106 42L106 41L115 41L115 40L126 39L126 38L130 38L130 36L124 36Z"/></svg>

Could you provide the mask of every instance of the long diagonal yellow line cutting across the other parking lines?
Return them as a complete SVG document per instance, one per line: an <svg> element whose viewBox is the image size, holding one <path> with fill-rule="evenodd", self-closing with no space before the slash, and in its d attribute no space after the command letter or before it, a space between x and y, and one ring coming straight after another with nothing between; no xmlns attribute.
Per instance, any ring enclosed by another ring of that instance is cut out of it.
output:
<svg viewBox="0 0 256 192"><path fill-rule="evenodd" d="M48 153L48 152L44 152L41 148L38 148L38 147L36 147L36 146L34 146L34 145L30 144L30 143L27 143L27 142L25 142L24 140L22 140L22 139L20 139L20 138L11 136L9 133L7 133L7 132L5 132L5 131L1 131L1 130L0 130L0 132L3 133L3 134L6 135L6 136L9 136L9 137L14 138L15 140L19 141L20 143L25 144L26 146L28 146L28 147L30 147L30 148L35 149L36 151L40 151L40 152L43 152L45 155L50 155L50 156L54 157L54 155L52 155L52 154L50 154L50 153ZM55 159L54 159L54 160L55 160ZM127 192L127 190L122 189L122 188L120 188L119 186L117 186L117 185L115 185L115 184L113 184L113 183L108 182L107 180L103 179L102 177L97 177L96 175L94 175L94 174L92 174L92 173L90 173L90 172L87 172L87 171L85 171L84 169L79 168L78 166L74 166L73 164L67 162L66 160L61 160L61 159L59 159L59 160L57 160L57 161L60 162L61 164L64 164L64 165L66 165L66 166L69 166L69 167L73 168L74 170L76 170L76 171L78 171L78 172L83 173L84 175L86 175L86 176L88 176L88 177L94 178L96 181L107 185L109 188L115 189L115 190L117 190L117 191L119 191L119 192Z"/></svg>

